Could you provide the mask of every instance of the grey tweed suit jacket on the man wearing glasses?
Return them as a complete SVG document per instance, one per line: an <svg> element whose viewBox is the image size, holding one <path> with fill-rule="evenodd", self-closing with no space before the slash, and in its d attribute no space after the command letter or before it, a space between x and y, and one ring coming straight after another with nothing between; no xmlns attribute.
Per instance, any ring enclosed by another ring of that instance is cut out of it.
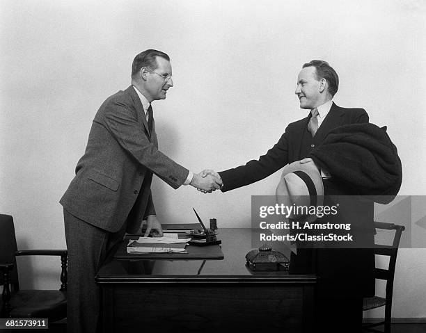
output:
<svg viewBox="0 0 426 333"><path fill-rule="evenodd" d="M112 95L95 115L86 152L60 201L64 209L108 232L127 220L127 231L136 232L143 218L155 214L152 173L173 188L189 173L157 147L155 126L150 133L134 88Z"/></svg>

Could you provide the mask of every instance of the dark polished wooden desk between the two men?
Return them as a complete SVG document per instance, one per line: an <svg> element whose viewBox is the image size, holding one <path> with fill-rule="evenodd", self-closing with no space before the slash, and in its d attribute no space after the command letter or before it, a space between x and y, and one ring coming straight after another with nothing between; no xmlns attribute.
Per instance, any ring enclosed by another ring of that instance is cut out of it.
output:
<svg viewBox="0 0 426 333"><path fill-rule="evenodd" d="M114 259L95 277L104 332L314 332L315 275L246 268L251 229L221 229L223 260Z"/></svg>

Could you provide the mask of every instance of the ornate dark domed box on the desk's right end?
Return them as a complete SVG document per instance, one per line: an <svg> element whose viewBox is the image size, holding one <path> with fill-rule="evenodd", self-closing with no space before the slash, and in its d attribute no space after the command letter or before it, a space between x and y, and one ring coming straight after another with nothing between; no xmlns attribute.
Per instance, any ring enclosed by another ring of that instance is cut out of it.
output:
<svg viewBox="0 0 426 333"><path fill-rule="evenodd" d="M246 254L246 266L251 270L288 270L288 265L287 257L267 244Z"/></svg>

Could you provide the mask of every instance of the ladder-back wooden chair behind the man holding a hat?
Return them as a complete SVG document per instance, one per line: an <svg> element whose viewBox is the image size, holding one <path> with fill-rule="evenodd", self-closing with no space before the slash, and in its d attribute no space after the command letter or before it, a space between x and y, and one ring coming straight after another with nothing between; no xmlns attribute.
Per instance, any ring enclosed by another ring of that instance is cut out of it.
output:
<svg viewBox="0 0 426 333"><path fill-rule="evenodd" d="M373 296L364 298L363 311L374 309L377 307L385 307L385 318L379 323L365 323L363 330L368 332L385 332L390 333L390 319L392 318L392 293L393 293L393 277L395 276L395 266L398 253L398 246L405 227L402 225L395 225L393 223L374 222L376 229L395 230L392 245L374 245L374 254L380 254L389 257L388 269L375 268L374 274L376 279L386 280L386 293L385 298ZM372 327L384 325L384 331L376 330Z"/></svg>

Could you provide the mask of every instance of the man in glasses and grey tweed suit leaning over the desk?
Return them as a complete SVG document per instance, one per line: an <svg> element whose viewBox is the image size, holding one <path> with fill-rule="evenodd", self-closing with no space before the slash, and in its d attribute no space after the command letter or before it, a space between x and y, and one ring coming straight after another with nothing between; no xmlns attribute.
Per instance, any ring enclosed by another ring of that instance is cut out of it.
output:
<svg viewBox="0 0 426 333"><path fill-rule="evenodd" d="M151 195L152 174L173 188L216 190L221 181L200 177L161 153L151 102L173 87L170 58L148 49L132 63L132 86L109 97L95 115L76 176L61 198L68 247L68 332L96 332L100 294L95 274L125 232L147 221L162 236Z"/></svg>

